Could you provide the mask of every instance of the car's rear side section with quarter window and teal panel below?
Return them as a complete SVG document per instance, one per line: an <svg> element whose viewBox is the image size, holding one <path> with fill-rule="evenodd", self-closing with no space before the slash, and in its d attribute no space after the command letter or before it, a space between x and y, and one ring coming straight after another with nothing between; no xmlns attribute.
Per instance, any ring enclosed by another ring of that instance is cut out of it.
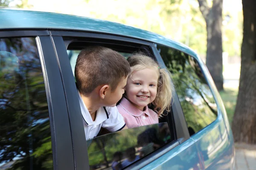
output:
<svg viewBox="0 0 256 170"><path fill-rule="evenodd" d="M169 71L205 169L234 168L233 136L218 91L198 56L156 45Z"/></svg>

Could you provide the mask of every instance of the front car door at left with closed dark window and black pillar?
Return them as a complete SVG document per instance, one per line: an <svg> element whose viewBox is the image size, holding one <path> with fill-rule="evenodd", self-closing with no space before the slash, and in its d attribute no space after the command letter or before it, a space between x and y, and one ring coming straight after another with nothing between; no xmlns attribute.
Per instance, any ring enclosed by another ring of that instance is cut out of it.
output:
<svg viewBox="0 0 256 170"><path fill-rule="evenodd" d="M74 170L49 32L0 31L0 75L0 169Z"/></svg>

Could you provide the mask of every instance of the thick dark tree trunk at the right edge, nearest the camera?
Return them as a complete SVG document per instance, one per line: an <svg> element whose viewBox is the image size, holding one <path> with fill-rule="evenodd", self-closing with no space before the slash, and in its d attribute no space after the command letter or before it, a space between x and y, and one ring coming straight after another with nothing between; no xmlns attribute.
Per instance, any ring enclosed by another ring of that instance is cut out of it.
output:
<svg viewBox="0 0 256 170"><path fill-rule="evenodd" d="M232 130L235 142L256 144L256 1L242 0L242 4L244 36L239 93Z"/></svg>

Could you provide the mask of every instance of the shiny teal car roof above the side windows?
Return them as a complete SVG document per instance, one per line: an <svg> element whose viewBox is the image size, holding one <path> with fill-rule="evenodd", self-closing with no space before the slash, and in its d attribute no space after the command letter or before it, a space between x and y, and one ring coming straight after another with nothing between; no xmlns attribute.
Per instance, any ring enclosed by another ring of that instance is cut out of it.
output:
<svg viewBox="0 0 256 170"><path fill-rule="evenodd" d="M182 43L124 24L68 14L0 8L0 31L14 29L57 29L121 35L171 46L198 58L191 48Z"/></svg>

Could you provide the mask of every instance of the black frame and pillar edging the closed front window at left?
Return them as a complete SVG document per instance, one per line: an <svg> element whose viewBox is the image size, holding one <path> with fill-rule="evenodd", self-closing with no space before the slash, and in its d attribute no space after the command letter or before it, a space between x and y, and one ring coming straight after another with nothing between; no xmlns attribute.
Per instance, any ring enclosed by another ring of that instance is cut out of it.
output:
<svg viewBox="0 0 256 170"><path fill-rule="evenodd" d="M14 37L34 37L36 41L49 110L53 169L75 170L67 105L49 31L0 30L0 38Z"/></svg>

